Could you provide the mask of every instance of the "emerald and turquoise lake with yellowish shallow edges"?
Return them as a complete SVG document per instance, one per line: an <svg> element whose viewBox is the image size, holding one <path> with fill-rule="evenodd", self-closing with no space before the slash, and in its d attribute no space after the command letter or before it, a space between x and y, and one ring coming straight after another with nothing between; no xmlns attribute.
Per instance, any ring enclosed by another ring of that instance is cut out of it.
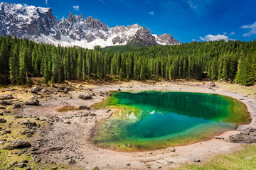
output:
<svg viewBox="0 0 256 170"><path fill-rule="evenodd" d="M97 125L92 142L122 151L188 145L250 123L245 104L215 94L114 92L109 100L119 112Z"/></svg>

